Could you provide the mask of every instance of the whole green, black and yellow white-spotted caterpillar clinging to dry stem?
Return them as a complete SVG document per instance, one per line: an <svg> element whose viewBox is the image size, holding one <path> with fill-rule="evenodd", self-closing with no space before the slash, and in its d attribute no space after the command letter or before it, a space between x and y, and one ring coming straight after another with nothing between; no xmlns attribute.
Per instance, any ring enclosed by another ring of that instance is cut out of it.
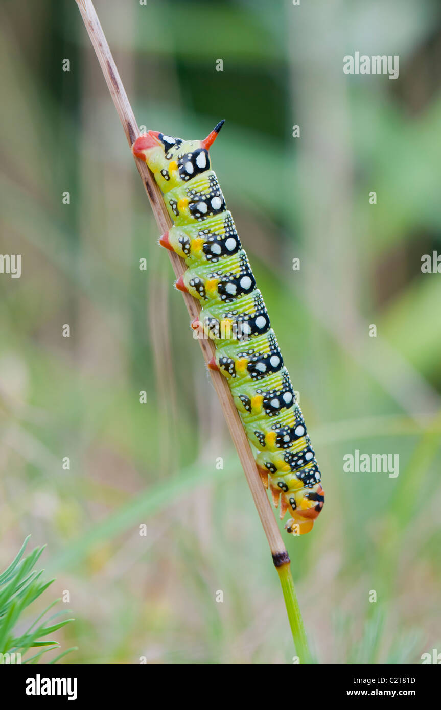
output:
<svg viewBox="0 0 441 710"><path fill-rule="evenodd" d="M173 222L159 244L187 265L175 286L202 302L192 327L214 341L209 368L227 378L263 485L268 488L269 478L281 519L290 511L286 530L303 535L325 501L321 474L263 297L211 170L209 148L223 124L203 141L148 131L132 151L152 171Z"/></svg>

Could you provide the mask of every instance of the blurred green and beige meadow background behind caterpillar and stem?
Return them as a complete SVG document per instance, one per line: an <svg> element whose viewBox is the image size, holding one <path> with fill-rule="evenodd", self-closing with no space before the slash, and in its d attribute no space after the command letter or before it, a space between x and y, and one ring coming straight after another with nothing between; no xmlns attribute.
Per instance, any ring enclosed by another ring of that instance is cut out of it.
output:
<svg viewBox="0 0 441 710"><path fill-rule="evenodd" d="M441 651L441 275L421 273L441 253L440 5L95 6L138 124L203 138L226 119L214 169L326 492L309 535L283 532L317 660L420 662ZM66 663L291 662L271 555L75 1L4 1L1 40L0 252L22 274L0 275L0 567L30 532L48 544L47 594L70 591L76 618L58 632L79 646ZM399 55L398 80L344 75L355 51ZM398 454L398 477L344 473L356 449Z"/></svg>

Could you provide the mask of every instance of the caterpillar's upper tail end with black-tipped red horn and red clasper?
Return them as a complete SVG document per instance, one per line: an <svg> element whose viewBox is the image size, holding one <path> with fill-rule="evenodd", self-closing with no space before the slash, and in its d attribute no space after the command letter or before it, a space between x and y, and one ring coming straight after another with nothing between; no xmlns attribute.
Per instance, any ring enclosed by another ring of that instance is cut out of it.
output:
<svg viewBox="0 0 441 710"><path fill-rule="evenodd" d="M147 163L160 189L168 192L209 170L208 151L223 125L224 121L219 121L203 141L183 141L148 131L136 138L132 152Z"/></svg>

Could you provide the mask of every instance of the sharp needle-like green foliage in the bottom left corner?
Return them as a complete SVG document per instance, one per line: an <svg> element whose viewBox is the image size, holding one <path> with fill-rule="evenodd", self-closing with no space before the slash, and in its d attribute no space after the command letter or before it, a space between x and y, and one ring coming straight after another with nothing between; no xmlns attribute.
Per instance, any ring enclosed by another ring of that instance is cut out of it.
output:
<svg viewBox="0 0 441 710"><path fill-rule="evenodd" d="M48 589L50 584L55 581L43 581L41 579L43 569L37 571L34 569L38 559L43 552L45 546L36 547L35 550L23 557L29 537L21 546L21 550L16 555L13 562L0 574L0 662L10 662L11 654L20 654L22 663L37 663L43 654L49 650L60 648L58 641L45 640L45 637L58 631L58 629L66 626L67 623L73 621L72 618L55 621L55 618L68 613L61 611L46 617L48 611L60 601L55 599L50 603L44 611L42 611L31 626L26 628L21 617L33 601L36 601L43 592ZM43 620L45 617L45 620ZM53 622L53 623L50 623ZM33 648L41 648L38 653L25 657L26 653ZM66 655L73 648L62 652L55 657L51 663L56 662L62 656ZM5 654L9 654L5 657Z"/></svg>

